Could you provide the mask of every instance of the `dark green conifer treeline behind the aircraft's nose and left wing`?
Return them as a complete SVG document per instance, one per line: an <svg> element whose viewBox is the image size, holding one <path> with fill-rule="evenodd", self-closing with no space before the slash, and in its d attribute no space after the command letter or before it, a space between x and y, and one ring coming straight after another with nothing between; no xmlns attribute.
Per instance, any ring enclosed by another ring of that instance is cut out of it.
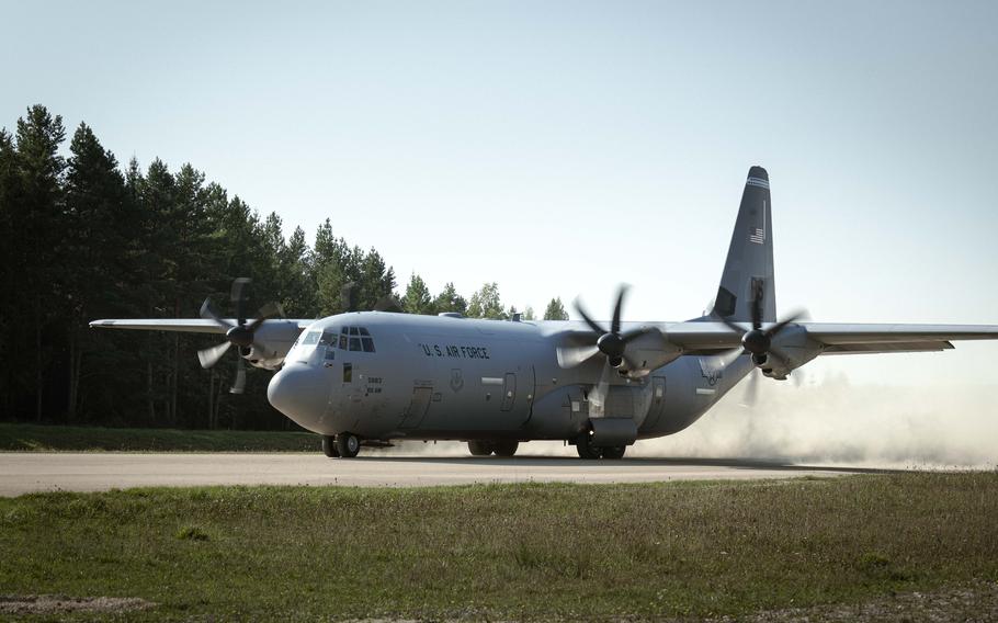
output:
<svg viewBox="0 0 998 623"><path fill-rule="evenodd" d="M229 285L253 279L251 309L281 303L292 318L343 312L386 296L412 314L508 318L496 283L465 298L435 295L413 274L396 292L376 249L337 237L326 219L309 246L281 217L261 217L238 195L184 165L121 166L81 123L65 149L63 120L35 105L0 129L0 418L113 426L283 428L266 403L270 373L250 369L230 395L235 355L211 371L195 351L218 336L91 330L97 318L190 318L211 296L234 315ZM532 318L526 308L524 318ZM567 318L552 299L545 318Z"/></svg>

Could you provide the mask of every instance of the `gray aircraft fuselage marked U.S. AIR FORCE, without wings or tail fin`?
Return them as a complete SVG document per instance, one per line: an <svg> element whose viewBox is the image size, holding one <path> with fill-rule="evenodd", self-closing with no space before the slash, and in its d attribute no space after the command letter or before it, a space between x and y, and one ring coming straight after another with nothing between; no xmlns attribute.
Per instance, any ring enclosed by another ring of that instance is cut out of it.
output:
<svg viewBox="0 0 998 623"><path fill-rule="evenodd" d="M558 365L554 336L571 327L585 330L569 321L332 316L300 333L268 398L324 435L575 440L589 426L589 392L604 363L593 358L568 370ZM364 339L373 352L363 350ZM717 361L679 356L642 378L614 374L605 417L632 419L638 439L680 431L753 367L740 356L722 373Z"/></svg>

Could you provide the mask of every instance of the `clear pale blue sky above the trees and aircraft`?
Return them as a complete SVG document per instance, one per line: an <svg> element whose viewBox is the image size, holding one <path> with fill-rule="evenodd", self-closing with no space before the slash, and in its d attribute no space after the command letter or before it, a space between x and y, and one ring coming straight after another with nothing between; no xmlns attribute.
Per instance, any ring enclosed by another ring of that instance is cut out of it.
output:
<svg viewBox="0 0 998 623"><path fill-rule="evenodd" d="M698 315L745 173L778 301L998 324L996 2L8 2L0 125L41 102L122 161L190 161L400 285ZM820 363L996 383L998 344Z"/></svg>

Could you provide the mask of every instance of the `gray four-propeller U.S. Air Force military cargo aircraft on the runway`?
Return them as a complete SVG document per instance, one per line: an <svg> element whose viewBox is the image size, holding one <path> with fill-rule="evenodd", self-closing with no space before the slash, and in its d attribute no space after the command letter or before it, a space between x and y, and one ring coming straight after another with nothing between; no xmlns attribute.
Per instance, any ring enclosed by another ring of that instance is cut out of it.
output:
<svg viewBox="0 0 998 623"><path fill-rule="evenodd" d="M393 440L460 440L473 455L512 456L519 443L562 440L582 458L621 458L637 440L679 432L756 369L785 380L819 355L942 351L953 340L998 339L998 326L853 325L779 319L769 175L749 170L710 313L682 322L609 324L580 305L577 321L481 320L457 314L355 312L319 320L222 318L94 320L91 327L224 335L199 353L205 367L231 346L276 371L266 396L322 435L324 452L353 457ZM758 375L758 374L757 374Z"/></svg>

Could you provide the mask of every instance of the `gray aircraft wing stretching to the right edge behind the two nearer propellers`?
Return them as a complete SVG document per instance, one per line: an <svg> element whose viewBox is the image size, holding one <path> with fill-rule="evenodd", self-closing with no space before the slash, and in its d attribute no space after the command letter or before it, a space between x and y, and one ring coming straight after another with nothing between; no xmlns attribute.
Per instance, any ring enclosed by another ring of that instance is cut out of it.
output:
<svg viewBox="0 0 998 623"><path fill-rule="evenodd" d="M996 325L796 325L824 346L823 354L941 351L952 349L955 340L998 340ZM678 322L667 326L665 333L684 354L717 354L740 344L740 336L722 322Z"/></svg>

